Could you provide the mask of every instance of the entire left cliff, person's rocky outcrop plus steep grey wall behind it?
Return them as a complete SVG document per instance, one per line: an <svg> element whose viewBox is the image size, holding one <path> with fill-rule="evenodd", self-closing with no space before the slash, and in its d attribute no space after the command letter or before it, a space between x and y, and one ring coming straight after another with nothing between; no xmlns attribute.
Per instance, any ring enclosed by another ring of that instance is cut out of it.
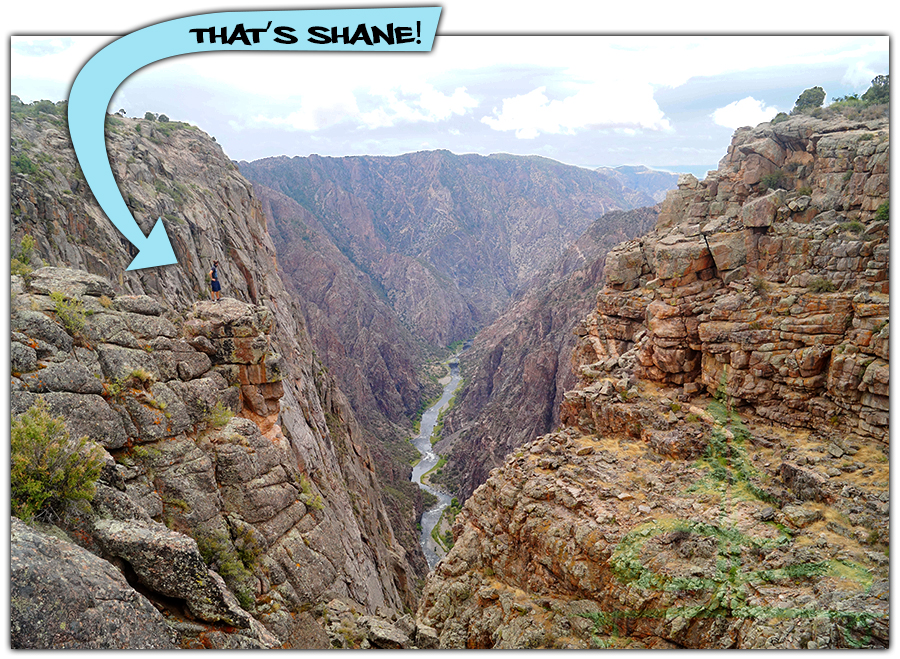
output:
<svg viewBox="0 0 900 659"><path fill-rule="evenodd" d="M284 288L251 185L193 127L109 117L123 195L145 231L163 218L179 259L125 272L132 248L81 178L64 116L13 99L13 252L29 260L33 238L35 269L13 280L12 388L14 413L42 399L111 456L90 510L59 521L68 539L164 609L182 646L328 645L311 607L414 606L418 577L372 456ZM214 258L231 299L198 302ZM224 408L236 415L218 426ZM176 558L186 572L170 583ZM22 566L14 590L37 569ZM71 604L37 606L25 583L16 611ZM103 592L79 595L85 615ZM23 634L15 645L44 645Z"/></svg>

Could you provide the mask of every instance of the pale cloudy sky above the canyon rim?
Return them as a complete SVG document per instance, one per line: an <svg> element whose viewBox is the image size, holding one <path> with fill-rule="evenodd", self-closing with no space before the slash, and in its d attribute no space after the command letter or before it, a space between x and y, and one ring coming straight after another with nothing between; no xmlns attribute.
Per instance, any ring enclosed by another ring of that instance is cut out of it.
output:
<svg viewBox="0 0 900 659"><path fill-rule="evenodd" d="M181 56L128 78L110 110L195 124L235 160L448 149L703 174L735 128L790 111L804 89L822 86L830 100L889 72L887 36L460 36L499 30L451 23L458 4L444 5L431 53ZM61 100L115 36L224 8L160 6L136 25L123 17L120 29L97 30L104 37L75 36L84 24L53 36L13 24L11 92Z"/></svg>

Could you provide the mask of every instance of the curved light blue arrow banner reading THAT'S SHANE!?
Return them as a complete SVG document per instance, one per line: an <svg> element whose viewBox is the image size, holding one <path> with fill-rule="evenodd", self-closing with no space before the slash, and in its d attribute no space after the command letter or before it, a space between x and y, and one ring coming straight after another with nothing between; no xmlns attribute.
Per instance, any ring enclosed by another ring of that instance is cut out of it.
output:
<svg viewBox="0 0 900 659"><path fill-rule="evenodd" d="M113 94L135 71L159 60L215 51L430 51L440 7L311 9L201 14L132 32L94 55L69 92L69 133L81 171L115 227L138 250L128 270L177 263L162 218L145 236L125 205L106 152Z"/></svg>

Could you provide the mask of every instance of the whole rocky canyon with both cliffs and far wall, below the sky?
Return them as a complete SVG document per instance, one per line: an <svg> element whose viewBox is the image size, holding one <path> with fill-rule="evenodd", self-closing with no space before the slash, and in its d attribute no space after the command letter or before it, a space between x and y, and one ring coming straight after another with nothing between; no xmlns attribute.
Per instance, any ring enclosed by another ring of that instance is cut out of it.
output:
<svg viewBox="0 0 900 659"><path fill-rule="evenodd" d="M12 106L12 412L102 457L89 500L13 519L14 647L887 646L886 116L741 129L666 193L536 157L233 163L110 115L179 259L128 272L65 104ZM408 438L473 335L429 572Z"/></svg>

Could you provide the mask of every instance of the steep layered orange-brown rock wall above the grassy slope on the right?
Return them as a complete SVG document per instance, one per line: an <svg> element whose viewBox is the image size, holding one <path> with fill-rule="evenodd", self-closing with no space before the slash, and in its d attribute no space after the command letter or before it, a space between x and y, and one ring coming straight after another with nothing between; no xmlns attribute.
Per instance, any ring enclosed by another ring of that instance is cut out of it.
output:
<svg viewBox="0 0 900 659"><path fill-rule="evenodd" d="M718 172L681 180L654 233L610 253L583 363L630 352L640 379L887 441L888 140L886 121L739 131Z"/></svg>

